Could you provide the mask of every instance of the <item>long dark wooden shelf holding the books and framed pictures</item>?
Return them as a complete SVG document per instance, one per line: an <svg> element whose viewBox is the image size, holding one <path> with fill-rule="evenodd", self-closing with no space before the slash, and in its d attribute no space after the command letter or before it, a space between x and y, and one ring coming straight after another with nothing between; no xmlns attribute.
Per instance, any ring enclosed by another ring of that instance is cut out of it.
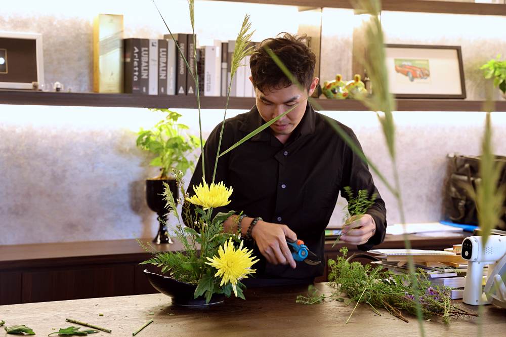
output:
<svg viewBox="0 0 506 337"><path fill-rule="evenodd" d="M223 109L225 97L201 97L202 109ZM323 110L367 111L359 101L317 99ZM448 99L397 99L398 111L481 111L483 101ZM135 94L49 93L36 91L0 90L0 104L140 107L196 109L194 96L146 96ZM229 109L249 110L254 98L231 97ZM497 101L494 111L506 111L506 101Z"/></svg>

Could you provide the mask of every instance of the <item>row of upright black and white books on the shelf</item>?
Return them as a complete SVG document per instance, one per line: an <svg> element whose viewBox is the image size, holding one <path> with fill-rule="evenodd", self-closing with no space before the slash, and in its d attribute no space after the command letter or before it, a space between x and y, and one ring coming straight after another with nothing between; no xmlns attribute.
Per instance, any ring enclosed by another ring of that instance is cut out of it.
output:
<svg viewBox="0 0 506 337"><path fill-rule="evenodd" d="M177 43L177 44L176 44ZM249 56L231 79L235 40L216 41L213 46L197 47L193 35L170 34L163 39L127 38L123 40L124 92L145 95L196 95L255 97L249 76ZM181 57L185 56L187 64ZM196 54L196 59L194 55ZM192 73L197 68L199 88Z"/></svg>

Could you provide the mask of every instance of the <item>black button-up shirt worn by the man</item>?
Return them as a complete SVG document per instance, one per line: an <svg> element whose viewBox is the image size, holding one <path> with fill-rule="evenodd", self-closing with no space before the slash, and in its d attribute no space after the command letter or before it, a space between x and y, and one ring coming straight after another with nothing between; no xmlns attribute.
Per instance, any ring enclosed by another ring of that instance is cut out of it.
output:
<svg viewBox="0 0 506 337"><path fill-rule="evenodd" d="M254 131L265 121L254 106L249 112L225 121L221 144L223 152ZM353 131L335 121L360 146ZM206 182L210 183L220 138L221 123L207 138L204 146ZM188 193L202 181L201 158L195 166ZM234 189L231 202L216 212L241 210L248 217L287 225L318 255L322 263L310 266L297 262L297 268L271 265L256 245L246 242L261 259L254 267L257 278L311 279L323 274L324 229L334 210L338 195L346 196L343 188L350 186L354 195L366 189L377 193L368 214L376 223L376 233L359 249L367 250L385 238L385 202L374 186L367 165L351 150L328 122L308 103L304 116L290 138L282 144L265 129L218 160L215 182L224 182Z"/></svg>

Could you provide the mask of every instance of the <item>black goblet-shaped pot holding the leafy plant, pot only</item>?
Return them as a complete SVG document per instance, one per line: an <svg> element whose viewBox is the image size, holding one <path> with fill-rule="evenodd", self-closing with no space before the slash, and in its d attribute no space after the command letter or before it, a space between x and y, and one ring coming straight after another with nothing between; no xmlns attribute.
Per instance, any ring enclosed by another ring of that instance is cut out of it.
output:
<svg viewBox="0 0 506 337"><path fill-rule="evenodd" d="M166 201L163 200L163 183L167 183L171 189L174 200L179 196L178 185L174 179L148 179L146 180L146 201L149 208L158 215L158 233L153 239L154 243L174 243L167 233L168 210L165 208Z"/></svg>

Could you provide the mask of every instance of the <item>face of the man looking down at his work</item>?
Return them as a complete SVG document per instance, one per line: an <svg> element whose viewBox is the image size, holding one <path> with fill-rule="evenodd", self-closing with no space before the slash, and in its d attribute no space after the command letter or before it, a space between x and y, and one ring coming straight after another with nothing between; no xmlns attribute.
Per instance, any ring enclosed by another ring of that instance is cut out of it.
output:
<svg viewBox="0 0 506 337"><path fill-rule="evenodd" d="M287 139L289 135L297 128L297 125L304 117L308 96L310 96L316 88L318 78L314 78L311 87L308 91L301 91L296 85L291 85L283 89L266 89L264 93L255 89L255 96L257 100L257 108L260 116L268 122L271 119L279 116L286 110L296 108L288 112L283 117L279 118L275 123L271 124L270 128L274 136L278 139Z"/></svg>

